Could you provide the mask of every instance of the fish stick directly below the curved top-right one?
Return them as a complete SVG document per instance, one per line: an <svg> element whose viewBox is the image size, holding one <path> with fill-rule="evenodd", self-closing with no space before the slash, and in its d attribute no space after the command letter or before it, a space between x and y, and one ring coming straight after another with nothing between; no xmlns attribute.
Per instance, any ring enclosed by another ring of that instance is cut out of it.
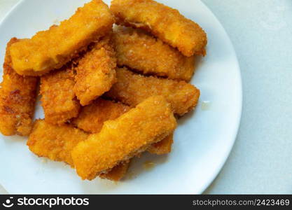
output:
<svg viewBox="0 0 292 210"><path fill-rule="evenodd" d="M178 50L138 29L119 27L114 31L118 66L134 71L189 81L195 71L195 57Z"/></svg>

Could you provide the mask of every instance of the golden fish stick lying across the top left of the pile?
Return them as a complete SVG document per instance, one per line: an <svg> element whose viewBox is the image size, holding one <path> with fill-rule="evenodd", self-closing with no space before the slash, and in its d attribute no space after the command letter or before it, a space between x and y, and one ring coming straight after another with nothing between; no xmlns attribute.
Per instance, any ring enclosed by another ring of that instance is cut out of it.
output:
<svg viewBox="0 0 292 210"><path fill-rule="evenodd" d="M111 30L113 16L101 0L76 10L76 13L46 31L39 31L30 39L11 45L13 69L19 74L40 76L52 69L60 69L89 43Z"/></svg>

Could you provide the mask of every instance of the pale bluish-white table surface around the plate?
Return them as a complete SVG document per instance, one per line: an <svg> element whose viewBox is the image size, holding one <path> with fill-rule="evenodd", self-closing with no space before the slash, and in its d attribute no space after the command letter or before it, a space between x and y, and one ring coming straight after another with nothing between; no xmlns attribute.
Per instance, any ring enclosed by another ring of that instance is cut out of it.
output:
<svg viewBox="0 0 292 210"><path fill-rule="evenodd" d="M0 0L0 21L18 1ZM291 194L292 1L202 1L235 46L244 95L235 146L205 193Z"/></svg>

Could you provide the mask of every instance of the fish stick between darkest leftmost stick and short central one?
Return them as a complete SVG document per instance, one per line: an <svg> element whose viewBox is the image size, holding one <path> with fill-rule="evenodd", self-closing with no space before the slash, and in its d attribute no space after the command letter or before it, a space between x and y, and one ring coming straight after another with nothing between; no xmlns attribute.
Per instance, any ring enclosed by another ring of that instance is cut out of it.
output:
<svg viewBox="0 0 292 210"><path fill-rule="evenodd" d="M41 76L41 106L48 123L62 125L78 116L80 104L74 85L74 70L70 66Z"/></svg>

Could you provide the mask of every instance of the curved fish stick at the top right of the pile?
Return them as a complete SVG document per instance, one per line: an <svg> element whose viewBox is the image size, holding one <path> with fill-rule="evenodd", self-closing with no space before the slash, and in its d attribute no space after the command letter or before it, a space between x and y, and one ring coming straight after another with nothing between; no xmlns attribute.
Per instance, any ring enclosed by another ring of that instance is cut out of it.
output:
<svg viewBox="0 0 292 210"><path fill-rule="evenodd" d="M153 0L113 0L111 11L118 25L146 29L183 55L206 55L206 33L178 10Z"/></svg>

